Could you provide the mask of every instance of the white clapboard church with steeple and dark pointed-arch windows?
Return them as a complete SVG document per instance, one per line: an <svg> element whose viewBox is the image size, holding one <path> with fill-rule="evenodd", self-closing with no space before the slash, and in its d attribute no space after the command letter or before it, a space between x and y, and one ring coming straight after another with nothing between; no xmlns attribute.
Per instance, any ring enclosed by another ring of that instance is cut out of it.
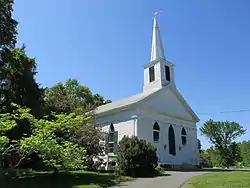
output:
<svg viewBox="0 0 250 188"><path fill-rule="evenodd" d="M143 92L100 106L95 116L96 124L108 135L105 161L115 159L117 143L124 135L134 135L157 148L159 164L199 165L199 118L176 88L174 64L165 58L157 15L151 59L144 65Z"/></svg>

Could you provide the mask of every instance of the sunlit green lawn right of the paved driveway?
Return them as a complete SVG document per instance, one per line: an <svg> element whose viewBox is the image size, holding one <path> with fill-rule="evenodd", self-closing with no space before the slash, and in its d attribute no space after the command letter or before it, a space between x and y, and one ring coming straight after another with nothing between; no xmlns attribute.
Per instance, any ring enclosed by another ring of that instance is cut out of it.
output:
<svg viewBox="0 0 250 188"><path fill-rule="evenodd" d="M191 178L183 188L249 188L250 172L216 172Z"/></svg>

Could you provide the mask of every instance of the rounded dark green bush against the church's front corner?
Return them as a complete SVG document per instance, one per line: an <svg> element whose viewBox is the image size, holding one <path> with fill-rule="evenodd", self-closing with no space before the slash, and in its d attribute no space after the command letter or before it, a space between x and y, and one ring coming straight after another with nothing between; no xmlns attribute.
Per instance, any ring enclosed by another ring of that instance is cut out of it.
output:
<svg viewBox="0 0 250 188"><path fill-rule="evenodd" d="M157 167L156 149L145 140L124 136L117 148L118 171L128 176L150 176Z"/></svg>

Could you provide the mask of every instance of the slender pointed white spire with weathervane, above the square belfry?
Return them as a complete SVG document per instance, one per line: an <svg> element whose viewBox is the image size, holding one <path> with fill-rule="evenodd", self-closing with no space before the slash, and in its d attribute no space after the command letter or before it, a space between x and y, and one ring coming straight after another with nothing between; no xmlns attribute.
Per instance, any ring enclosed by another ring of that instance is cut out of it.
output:
<svg viewBox="0 0 250 188"><path fill-rule="evenodd" d="M153 25L153 36L152 36L152 48L151 48L151 59L150 61L157 60L159 58L165 59L164 49L161 41L160 28L157 23L157 15L159 12L155 13L154 25Z"/></svg>

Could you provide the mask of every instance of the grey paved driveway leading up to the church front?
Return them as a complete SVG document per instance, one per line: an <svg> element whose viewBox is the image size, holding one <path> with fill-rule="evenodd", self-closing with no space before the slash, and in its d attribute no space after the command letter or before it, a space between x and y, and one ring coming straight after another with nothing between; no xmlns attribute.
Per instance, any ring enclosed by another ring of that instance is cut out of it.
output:
<svg viewBox="0 0 250 188"><path fill-rule="evenodd" d="M134 181L123 182L113 188L180 188L189 178L206 172L176 172L168 171L169 175L155 178L139 178Z"/></svg>

